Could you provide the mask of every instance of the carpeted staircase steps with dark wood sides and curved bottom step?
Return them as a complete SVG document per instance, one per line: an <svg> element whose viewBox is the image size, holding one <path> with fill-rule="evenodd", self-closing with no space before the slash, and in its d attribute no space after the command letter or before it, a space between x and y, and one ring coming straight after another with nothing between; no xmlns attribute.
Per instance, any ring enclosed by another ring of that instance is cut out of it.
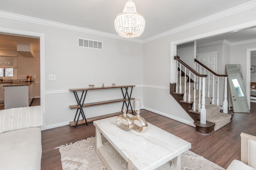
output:
<svg viewBox="0 0 256 170"><path fill-rule="evenodd" d="M177 75L180 75L180 71L178 71ZM186 74L182 71L181 76L178 76L177 78L178 87L181 86L181 91L177 90L176 83L173 83L173 84L170 84L170 94L180 104L180 106L183 107L183 109L188 113L188 115L190 115L190 117L194 120L194 124L196 125L196 132L202 135L208 135L210 133L213 133L214 131L217 131L218 129L225 126L226 124L230 123L230 121L232 121L233 114L220 112L221 106L211 104L212 98L209 98L209 97L205 97L205 104L204 104L206 109L206 123L202 123L202 121L200 121L201 112L200 112L200 108L198 109L198 104L202 104L202 90L195 90L196 95L194 96L194 81L192 80L191 77L189 77L188 75L186 76L185 75ZM188 81L189 79L190 79L190 83ZM186 82L186 83L180 84L180 82ZM190 84L190 95L188 95L189 84ZM186 93L185 93L185 86L186 86ZM176 91L179 91L179 92L176 92ZM190 96L190 102L188 102L189 101L188 96ZM195 105L193 105L194 102L196 103ZM194 109L194 106L196 107L195 109Z"/></svg>

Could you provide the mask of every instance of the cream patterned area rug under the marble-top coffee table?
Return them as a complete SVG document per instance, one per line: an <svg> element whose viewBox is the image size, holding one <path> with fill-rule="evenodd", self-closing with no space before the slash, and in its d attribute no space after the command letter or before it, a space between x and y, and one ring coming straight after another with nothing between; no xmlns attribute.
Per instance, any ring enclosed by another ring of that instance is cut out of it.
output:
<svg viewBox="0 0 256 170"><path fill-rule="evenodd" d="M77 141L73 144L70 143L69 145L62 145L56 147L56 149L60 150L63 170L106 170L95 152L95 137ZM118 161L125 162L122 166L127 168L127 162L120 160L122 156L118 155L118 152L115 154ZM225 170L190 150L181 154L181 167L182 170ZM170 170L170 164L166 163L157 168L157 170Z"/></svg>

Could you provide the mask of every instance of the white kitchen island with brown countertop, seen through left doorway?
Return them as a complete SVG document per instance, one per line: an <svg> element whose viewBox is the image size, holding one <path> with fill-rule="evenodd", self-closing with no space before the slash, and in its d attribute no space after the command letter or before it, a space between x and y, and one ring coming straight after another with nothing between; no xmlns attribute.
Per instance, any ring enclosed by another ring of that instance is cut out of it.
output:
<svg viewBox="0 0 256 170"><path fill-rule="evenodd" d="M34 82L12 83L4 86L4 109L27 107L34 98Z"/></svg>

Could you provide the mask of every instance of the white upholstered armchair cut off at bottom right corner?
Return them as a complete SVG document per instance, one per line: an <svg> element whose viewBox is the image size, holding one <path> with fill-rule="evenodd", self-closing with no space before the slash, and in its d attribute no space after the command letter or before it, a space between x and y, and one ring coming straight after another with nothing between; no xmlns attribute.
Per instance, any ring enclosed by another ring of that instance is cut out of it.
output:
<svg viewBox="0 0 256 170"><path fill-rule="evenodd" d="M256 136L241 133L241 161L233 160L227 170L256 169Z"/></svg>

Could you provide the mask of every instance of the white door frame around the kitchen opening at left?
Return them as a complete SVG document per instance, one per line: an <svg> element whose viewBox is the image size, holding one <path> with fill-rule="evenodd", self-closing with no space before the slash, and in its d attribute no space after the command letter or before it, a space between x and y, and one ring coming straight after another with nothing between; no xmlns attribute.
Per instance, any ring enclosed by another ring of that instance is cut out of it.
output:
<svg viewBox="0 0 256 170"><path fill-rule="evenodd" d="M0 32L40 38L40 105L43 112L43 125L45 125L45 34L4 27L0 27Z"/></svg>

